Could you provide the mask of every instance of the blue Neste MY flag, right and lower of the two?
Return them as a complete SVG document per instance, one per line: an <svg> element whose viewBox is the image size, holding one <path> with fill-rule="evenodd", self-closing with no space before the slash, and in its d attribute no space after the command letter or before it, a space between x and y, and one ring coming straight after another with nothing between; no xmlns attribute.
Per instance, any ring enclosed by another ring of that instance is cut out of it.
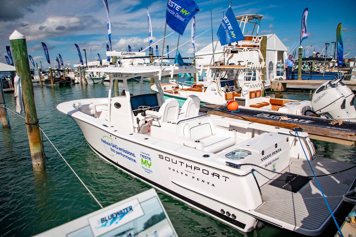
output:
<svg viewBox="0 0 356 237"><path fill-rule="evenodd" d="M226 45L245 39L231 7L227 9L223 21L219 26L217 35L221 45Z"/></svg>

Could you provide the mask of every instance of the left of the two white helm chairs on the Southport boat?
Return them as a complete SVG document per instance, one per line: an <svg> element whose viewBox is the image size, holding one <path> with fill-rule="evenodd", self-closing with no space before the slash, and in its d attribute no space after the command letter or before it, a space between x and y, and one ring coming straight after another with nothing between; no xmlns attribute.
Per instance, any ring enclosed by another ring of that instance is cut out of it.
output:
<svg viewBox="0 0 356 237"><path fill-rule="evenodd" d="M166 99L162 104L161 108L159 108L158 112L146 110L146 114L157 119L159 124L178 119L178 113L179 113L179 103L174 98ZM154 120L153 122L155 121L156 120ZM159 126L159 124L152 123L152 125L157 125L157 126Z"/></svg>

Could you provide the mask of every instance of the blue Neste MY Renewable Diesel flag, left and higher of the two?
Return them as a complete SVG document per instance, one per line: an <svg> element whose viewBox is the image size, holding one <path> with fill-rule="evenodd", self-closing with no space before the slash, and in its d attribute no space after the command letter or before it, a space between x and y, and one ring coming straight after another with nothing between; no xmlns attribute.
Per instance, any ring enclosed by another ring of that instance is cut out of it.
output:
<svg viewBox="0 0 356 237"><path fill-rule="evenodd" d="M193 0L168 0L166 23L175 32L183 35L188 22L198 11L199 7Z"/></svg>

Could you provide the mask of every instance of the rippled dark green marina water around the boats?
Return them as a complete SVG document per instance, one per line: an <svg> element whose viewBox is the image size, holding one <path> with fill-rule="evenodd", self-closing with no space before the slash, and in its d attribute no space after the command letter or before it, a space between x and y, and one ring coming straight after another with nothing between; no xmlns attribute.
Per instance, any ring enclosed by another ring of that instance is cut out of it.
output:
<svg viewBox="0 0 356 237"><path fill-rule="evenodd" d="M177 77L176 80L186 79ZM168 79L162 79L162 82L167 83ZM120 83L119 87L122 90ZM36 84L34 87L40 126L103 206L143 192L150 186L98 157L85 142L77 124L69 116L58 112L56 106L73 99L107 97L108 88L109 82L89 86L77 84L54 90ZM138 93L140 84L135 80L129 81L129 88ZM149 82L144 83L143 90L150 92ZM309 99L309 94L285 93L284 98L303 100ZM13 95L6 94L5 99L7 107L15 111ZM100 209L47 140L44 140L48 159L46 172L33 173L25 120L10 111L9 118L11 129L0 132L1 235L35 235ZM313 142L318 156L356 163L355 147L317 140ZM158 194L179 236L300 236L272 225L240 233L171 196ZM340 217L341 223L345 214ZM336 233L333 225L329 224L328 232L324 231L328 236Z"/></svg>

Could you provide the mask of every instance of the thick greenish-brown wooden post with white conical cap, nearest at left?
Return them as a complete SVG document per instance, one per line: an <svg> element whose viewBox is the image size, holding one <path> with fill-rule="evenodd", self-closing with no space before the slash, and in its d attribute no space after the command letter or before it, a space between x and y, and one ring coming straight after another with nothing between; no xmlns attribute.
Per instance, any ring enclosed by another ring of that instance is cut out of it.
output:
<svg viewBox="0 0 356 237"><path fill-rule="evenodd" d="M26 38L18 31L9 37L17 73L21 77L23 106L25 107L28 143L30 145L33 171L45 170L45 155L36 112L35 96L28 62Z"/></svg>

